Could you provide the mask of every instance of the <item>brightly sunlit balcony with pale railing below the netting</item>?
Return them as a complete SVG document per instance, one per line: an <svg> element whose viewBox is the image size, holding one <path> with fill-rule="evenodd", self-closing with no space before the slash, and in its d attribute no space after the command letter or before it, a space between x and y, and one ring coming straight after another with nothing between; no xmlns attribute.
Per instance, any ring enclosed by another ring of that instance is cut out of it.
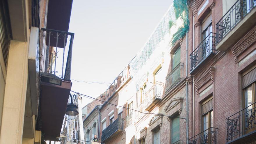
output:
<svg viewBox="0 0 256 144"><path fill-rule="evenodd" d="M149 111L154 105L163 98L163 83L156 82L146 93L143 101L143 108Z"/></svg>

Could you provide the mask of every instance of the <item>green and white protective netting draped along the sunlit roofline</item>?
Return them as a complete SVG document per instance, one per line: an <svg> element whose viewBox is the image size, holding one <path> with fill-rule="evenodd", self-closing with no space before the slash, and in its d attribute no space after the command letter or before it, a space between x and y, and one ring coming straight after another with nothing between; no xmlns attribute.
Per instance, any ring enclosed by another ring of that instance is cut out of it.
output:
<svg viewBox="0 0 256 144"><path fill-rule="evenodd" d="M148 69L161 61L163 58L162 55L166 53L177 40L184 37L188 30L189 19L186 0L174 0L156 29L130 64L133 77L136 79L137 84L147 77ZM166 42L168 43L167 46L161 45L161 43Z"/></svg>

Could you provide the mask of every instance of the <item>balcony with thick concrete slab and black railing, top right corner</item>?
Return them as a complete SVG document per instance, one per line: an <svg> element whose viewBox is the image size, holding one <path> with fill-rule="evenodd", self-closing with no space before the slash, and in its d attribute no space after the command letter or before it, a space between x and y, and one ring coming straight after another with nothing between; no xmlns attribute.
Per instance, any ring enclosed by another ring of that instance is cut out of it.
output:
<svg viewBox="0 0 256 144"><path fill-rule="evenodd" d="M225 51L256 23L256 1L238 0L216 24L216 50Z"/></svg>

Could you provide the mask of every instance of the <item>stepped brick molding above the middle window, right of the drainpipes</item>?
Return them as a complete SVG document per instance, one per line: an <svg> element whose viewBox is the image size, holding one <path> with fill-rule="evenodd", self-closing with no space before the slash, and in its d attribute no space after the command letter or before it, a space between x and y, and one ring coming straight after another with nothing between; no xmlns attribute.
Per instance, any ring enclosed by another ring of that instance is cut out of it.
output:
<svg viewBox="0 0 256 144"><path fill-rule="evenodd" d="M214 82L214 67L209 67L208 70L206 70L200 77L198 77L195 80L195 89L196 93L198 94L198 89L201 88L205 83L207 83L209 80Z"/></svg>

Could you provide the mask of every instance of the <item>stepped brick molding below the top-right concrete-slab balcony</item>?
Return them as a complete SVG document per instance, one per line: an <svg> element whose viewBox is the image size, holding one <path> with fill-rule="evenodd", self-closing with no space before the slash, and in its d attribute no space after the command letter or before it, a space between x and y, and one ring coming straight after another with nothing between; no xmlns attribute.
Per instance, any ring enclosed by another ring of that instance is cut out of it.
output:
<svg viewBox="0 0 256 144"><path fill-rule="evenodd" d="M251 29L243 38L241 38L232 48L235 63L238 62L237 57L256 41L256 26Z"/></svg>

